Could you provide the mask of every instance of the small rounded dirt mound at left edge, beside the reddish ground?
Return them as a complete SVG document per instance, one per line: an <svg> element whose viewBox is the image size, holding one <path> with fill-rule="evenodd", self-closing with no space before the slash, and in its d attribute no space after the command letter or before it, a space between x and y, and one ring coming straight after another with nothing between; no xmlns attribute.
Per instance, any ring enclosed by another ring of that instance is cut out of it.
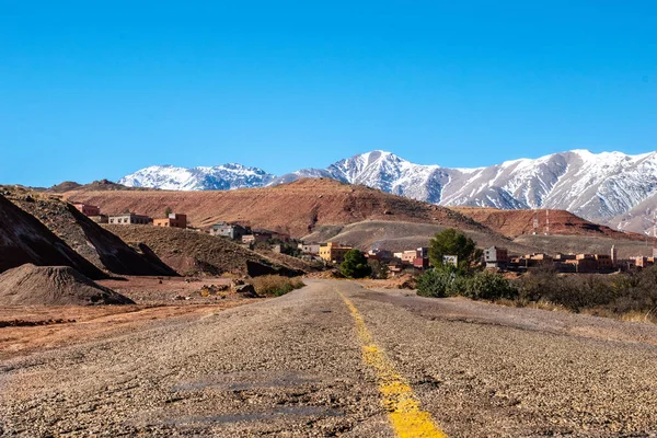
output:
<svg viewBox="0 0 657 438"><path fill-rule="evenodd" d="M0 275L0 306L134 304L69 266L25 264Z"/></svg>

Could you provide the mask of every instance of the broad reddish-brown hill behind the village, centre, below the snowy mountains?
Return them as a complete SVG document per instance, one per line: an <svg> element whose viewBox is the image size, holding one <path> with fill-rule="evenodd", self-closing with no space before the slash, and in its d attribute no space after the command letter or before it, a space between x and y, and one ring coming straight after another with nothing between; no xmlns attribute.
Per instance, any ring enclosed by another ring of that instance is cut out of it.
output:
<svg viewBox="0 0 657 438"><path fill-rule="evenodd" d="M65 198L97 205L105 214L130 210L162 217L169 207L186 214L194 227L226 220L288 232L300 238L322 224L367 219L429 222L468 230L485 227L448 208L327 178L228 192L76 189Z"/></svg>

